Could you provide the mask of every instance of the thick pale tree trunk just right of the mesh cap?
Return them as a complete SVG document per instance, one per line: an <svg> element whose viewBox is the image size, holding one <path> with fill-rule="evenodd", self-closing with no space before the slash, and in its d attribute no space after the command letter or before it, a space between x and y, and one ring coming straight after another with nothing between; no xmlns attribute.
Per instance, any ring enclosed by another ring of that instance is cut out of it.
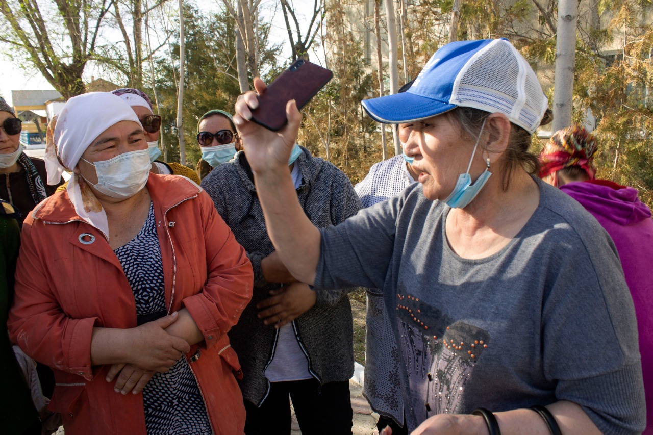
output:
<svg viewBox="0 0 653 435"><path fill-rule="evenodd" d="M552 131L571 125L573 108L573 74L576 61L576 21L578 1L558 2L558 34L556 35L556 80L553 94Z"/></svg>

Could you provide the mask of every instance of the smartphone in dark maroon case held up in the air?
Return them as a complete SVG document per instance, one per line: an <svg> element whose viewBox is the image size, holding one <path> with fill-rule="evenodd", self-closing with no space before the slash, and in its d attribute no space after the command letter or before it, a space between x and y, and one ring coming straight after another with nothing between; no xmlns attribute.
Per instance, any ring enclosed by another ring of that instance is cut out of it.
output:
<svg viewBox="0 0 653 435"><path fill-rule="evenodd" d="M259 95L259 107L251 111L251 120L272 131L282 129L288 122L286 103L294 99L301 110L332 77L332 71L297 59L268 85L263 95Z"/></svg>

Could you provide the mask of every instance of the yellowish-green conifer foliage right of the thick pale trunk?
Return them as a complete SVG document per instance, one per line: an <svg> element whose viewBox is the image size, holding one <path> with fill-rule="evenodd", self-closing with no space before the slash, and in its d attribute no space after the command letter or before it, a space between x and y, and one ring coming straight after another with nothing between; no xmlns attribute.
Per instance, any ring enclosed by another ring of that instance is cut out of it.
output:
<svg viewBox="0 0 653 435"><path fill-rule="evenodd" d="M643 24L641 3L624 0L605 9L614 17L607 37L627 35L621 53L602 56L590 50L594 41L579 44L575 120L582 121L586 109L597 117L597 176L639 189L653 206L653 29Z"/></svg>

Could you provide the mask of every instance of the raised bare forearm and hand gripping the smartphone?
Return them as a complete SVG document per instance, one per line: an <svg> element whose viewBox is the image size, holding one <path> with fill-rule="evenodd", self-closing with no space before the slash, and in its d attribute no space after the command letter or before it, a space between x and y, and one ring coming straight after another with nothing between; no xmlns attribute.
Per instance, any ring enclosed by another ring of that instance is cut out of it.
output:
<svg viewBox="0 0 653 435"><path fill-rule="evenodd" d="M267 89L260 78L255 78L254 87L259 94ZM257 106L255 93L242 95L236 103L234 123L247 150L268 234L291 274L301 282L313 284L320 253L320 233L297 201L288 171L288 158L302 116L295 101L289 101L286 105L288 124L279 131L270 131L251 121L250 108Z"/></svg>

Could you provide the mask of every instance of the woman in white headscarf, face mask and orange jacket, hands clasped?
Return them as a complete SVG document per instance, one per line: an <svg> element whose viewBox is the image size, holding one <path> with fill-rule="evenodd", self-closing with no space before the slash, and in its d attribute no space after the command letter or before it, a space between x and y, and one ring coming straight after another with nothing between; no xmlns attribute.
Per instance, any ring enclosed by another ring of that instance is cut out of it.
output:
<svg viewBox="0 0 653 435"><path fill-rule="evenodd" d="M227 331L251 298L245 251L196 184L150 173L116 95L70 99L48 130L48 181L59 162L73 176L25 220L8 328L54 368L67 434L242 432Z"/></svg>

